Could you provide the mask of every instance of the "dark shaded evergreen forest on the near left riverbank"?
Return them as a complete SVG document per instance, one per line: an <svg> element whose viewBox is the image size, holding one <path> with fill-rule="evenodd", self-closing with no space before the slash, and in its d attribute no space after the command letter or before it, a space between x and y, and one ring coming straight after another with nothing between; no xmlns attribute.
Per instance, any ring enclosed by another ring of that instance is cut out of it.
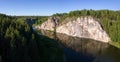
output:
<svg viewBox="0 0 120 62"><path fill-rule="evenodd" d="M0 14L0 62L63 62L63 51L25 20Z"/></svg>

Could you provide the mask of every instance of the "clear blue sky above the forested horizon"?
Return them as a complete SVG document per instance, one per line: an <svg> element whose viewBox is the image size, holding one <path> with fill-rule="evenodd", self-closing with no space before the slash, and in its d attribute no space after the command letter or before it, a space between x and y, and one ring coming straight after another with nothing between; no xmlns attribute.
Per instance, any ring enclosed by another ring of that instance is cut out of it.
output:
<svg viewBox="0 0 120 62"><path fill-rule="evenodd" d="M120 10L120 0L0 0L0 13L49 16L82 9Z"/></svg>

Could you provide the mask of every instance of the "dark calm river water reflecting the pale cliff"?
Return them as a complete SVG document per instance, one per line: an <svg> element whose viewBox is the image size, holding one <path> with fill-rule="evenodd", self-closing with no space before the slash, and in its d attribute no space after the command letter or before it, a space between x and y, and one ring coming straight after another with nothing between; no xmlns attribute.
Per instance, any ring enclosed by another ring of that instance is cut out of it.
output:
<svg viewBox="0 0 120 62"><path fill-rule="evenodd" d="M109 44L50 31L39 32L59 42L66 62L120 62L120 50Z"/></svg>

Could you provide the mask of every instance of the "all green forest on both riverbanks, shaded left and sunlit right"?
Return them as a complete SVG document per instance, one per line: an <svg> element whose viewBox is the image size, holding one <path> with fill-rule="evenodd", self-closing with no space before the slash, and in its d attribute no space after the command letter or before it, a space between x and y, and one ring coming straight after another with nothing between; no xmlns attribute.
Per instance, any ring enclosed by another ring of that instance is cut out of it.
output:
<svg viewBox="0 0 120 62"><path fill-rule="evenodd" d="M120 47L120 10L75 10L56 13L60 22L67 17L92 16L100 20L111 38ZM54 39L40 36L33 27L50 16L8 16L0 14L0 62L63 62L63 50ZM31 25L25 20L29 18ZM47 59L47 60L46 60Z"/></svg>

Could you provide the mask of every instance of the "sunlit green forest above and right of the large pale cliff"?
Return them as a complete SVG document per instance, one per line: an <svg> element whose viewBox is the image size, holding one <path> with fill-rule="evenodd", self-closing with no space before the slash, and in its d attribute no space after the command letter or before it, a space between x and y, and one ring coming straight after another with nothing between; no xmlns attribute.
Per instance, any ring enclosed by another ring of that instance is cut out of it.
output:
<svg viewBox="0 0 120 62"><path fill-rule="evenodd" d="M61 17L61 22L67 17L92 16L100 19L104 30L109 34L113 42L120 42L120 10L76 10L69 13L56 13L52 16Z"/></svg>

